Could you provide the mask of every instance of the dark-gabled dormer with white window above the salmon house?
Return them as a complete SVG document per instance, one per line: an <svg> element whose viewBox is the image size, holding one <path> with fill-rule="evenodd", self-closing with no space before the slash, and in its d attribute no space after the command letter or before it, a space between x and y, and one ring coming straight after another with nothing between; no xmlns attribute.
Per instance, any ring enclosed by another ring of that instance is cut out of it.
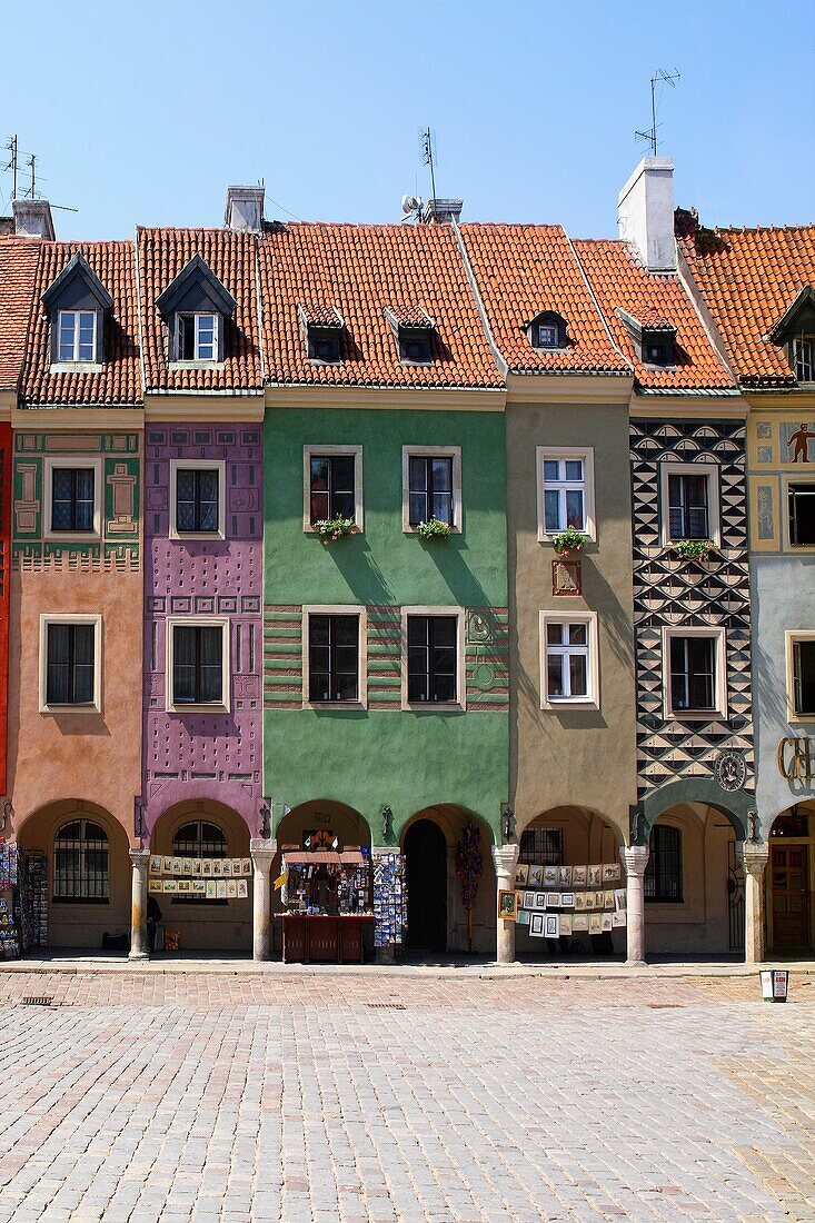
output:
<svg viewBox="0 0 815 1223"><path fill-rule="evenodd" d="M50 323L51 369L98 372L113 297L77 252L43 294Z"/></svg>

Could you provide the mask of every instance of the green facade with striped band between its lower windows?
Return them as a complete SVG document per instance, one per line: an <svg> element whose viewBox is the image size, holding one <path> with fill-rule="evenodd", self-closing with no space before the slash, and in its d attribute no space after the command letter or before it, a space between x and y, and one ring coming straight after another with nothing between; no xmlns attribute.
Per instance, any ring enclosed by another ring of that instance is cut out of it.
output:
<svg viewBox="0 0 815 1223"><path fill-rule="evenodd" d="M363 532L303 531L303 446L361 445ZM403 446L460 446L463 530L403 531ZM359 811L382 844L425 807L475 813L499 841L508 794L505 446L502 412L267 408L264 424L264 793L294 808ZM303 605L367 615L368 708L302 708ZM465 613L466 709L401 709L400 609Z"/></svg>

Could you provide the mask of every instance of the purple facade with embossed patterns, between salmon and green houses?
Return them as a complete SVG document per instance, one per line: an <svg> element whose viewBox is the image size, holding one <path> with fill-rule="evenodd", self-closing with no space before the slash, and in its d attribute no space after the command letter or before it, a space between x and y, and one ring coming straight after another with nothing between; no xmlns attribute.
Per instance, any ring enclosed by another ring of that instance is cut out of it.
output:
<svg viewBox="0 0 815 1223"><path fill-rule="evenodd" d="M144 455L143 813L215 800L257 835L262 790L263 493L259 424L148 424ZM223 464L223 539L171 538L175 461ZM168 711L168 620L225 620L229 712Z"/></svg>

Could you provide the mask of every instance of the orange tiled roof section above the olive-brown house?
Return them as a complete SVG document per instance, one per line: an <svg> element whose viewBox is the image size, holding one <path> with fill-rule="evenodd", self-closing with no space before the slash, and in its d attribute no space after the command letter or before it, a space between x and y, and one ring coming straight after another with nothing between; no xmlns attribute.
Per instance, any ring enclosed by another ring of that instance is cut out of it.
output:
<svg viewBox="0 0 815 1223"><path fill-rule="evenodd" d="M513 373L630 373L559 225L467 224L461 235L489 329ZM565 349L530 344L526 328L545 311L565 319Z"/></svg>

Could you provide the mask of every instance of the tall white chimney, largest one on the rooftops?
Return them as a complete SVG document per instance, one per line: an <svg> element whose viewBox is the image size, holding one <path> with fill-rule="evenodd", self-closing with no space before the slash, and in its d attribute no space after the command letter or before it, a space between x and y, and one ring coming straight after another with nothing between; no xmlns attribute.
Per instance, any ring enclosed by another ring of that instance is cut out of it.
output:
<svg viewBox="0 0 815 1223"><path fill-rule="evenodd" d="M619 236L633 242L649 272L677 270L673 161L644 157L617 201Z"/></svg>

